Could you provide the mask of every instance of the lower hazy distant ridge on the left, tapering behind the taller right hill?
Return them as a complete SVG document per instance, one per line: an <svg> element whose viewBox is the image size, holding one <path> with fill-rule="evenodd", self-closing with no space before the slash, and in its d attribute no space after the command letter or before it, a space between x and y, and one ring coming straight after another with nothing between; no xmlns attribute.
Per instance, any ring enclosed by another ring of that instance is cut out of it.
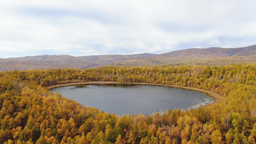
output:
<svg viewBox="0 0 256 144"><path fill-rule="evenodd" d="M53 68L75 68L87 69L110 65L118 61L133 58L148 58L156 54L134 54L134 55L100 55L74 57L69 55L42 55L20 58L0 59L0 71L53 69Z"/></svg>

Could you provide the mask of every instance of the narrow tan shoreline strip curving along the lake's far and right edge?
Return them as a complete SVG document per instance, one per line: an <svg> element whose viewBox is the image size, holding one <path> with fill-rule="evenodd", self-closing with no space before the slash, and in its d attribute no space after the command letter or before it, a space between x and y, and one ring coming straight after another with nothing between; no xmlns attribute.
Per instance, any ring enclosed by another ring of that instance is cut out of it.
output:
<svg viewBox="0 0 256 144"><path fill-rule="evenodd" d="M213 104L220 104L223 101L225 101L225 98L223 96L220 96L219 94L216 94L214 92L210 92L204 89L198 89L194 87L183 87L183 86L177 86L177 85L168 85L168 84L147 84L147 83L122 83L122 82L100 82L100 81L95 81L95 82L80 82L80 83L69 83L69 84L56 84L56 85L51 85L51 86L46 86L44 88L46 89L51 89L51 88L57 88L57 87L62 87L62 86L69 86L69 85L79 85L79 84L145 84L145 85L158 85L158 86L170 86L174 88L182 88L182 89L189 89L189 90L194 90L198 92L203 92L207 94L207 96L211 96L214 98L214 102L211 104L207 104L204 107L209 107Z"/></svg>

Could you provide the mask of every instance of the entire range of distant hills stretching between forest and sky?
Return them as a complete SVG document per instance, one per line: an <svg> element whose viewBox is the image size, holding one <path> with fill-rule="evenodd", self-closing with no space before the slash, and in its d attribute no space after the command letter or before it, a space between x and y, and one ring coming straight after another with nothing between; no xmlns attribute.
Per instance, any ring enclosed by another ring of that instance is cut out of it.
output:
<svg viewBox="0 0 256 144"><path fill-rule="evenodd" d="M163 54L100 55L74 57L42 55L0 59L0 71L112 66L226 65L256 63L256 45L244 48L189 48Z"/></svg>

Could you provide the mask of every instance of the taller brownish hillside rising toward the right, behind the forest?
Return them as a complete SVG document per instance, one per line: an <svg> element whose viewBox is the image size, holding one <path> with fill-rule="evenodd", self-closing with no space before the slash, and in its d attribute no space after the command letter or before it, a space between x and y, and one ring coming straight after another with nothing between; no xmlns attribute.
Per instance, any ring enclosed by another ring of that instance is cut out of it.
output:
<svg viewBox="0 0 256 144"><path fill-rule="evenodd" d="M189 48L158 54L146 59L119 61L117 66L152 65L227 65L232 63L256 62L256 45L244 48Z"/></svg>

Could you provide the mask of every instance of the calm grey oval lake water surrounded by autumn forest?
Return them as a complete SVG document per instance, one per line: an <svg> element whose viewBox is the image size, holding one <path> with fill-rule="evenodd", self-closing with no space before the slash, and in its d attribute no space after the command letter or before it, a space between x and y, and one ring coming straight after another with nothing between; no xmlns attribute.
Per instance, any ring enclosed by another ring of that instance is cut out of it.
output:
<svg viewBox="0 0 256 144"><path fill-rule="evenodd" d="M204 93L174 87L139 84L87 84L50 89L86 107L123 114L154 114L169 108L198 108L214 98Z"/></svg>

